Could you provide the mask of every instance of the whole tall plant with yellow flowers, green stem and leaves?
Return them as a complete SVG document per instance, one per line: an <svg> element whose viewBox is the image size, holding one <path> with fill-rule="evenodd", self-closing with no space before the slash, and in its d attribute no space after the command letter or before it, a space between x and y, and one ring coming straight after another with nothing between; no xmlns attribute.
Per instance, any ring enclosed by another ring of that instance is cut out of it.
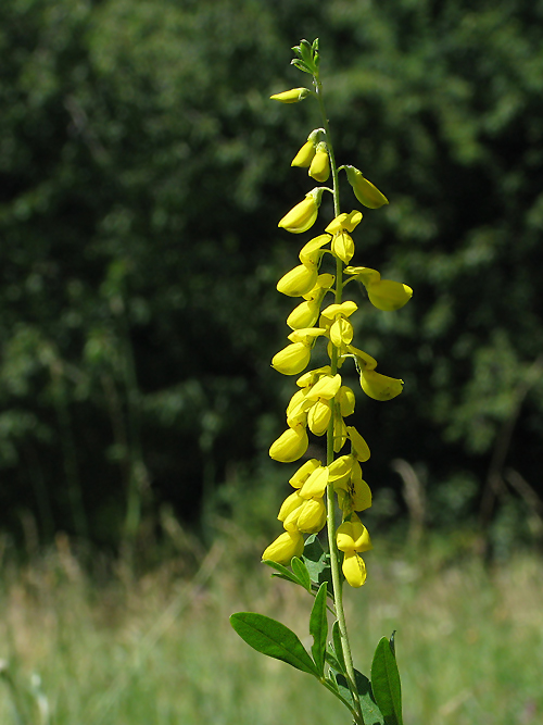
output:
<svg viewBox="0 0 543 725"><path fill-rule="evenodd" d="M351 266L355 245L351 236L363 218L358 210L342 212L339 173L344 172L356 200L367 209L388 204L387 198L355 166L338 166L319 74L318 39L302 40L292 49L292 64L312 76L313 88L293 88L272 96L282 103L317 101L323 126L312 130L292 161L308 168L308 176L326 184L317 186L289 211L279 226L292 234L311 229L318 218L324 193L333 198L333 218L300 251L300 264L288 272L277 289L302 298L287 318L289 345L272 365L283 375L300 375L311 362L316 345L326 345L329 364L303 373L287 407L287 430L272 445L276 461L290 463L303 458L310 439L326 435L326 461L306 460L290 479L294 491L287 497L278 518L285 532L264 551L263 560L275 576L293 582L314 597L310 616L313 645L308 652L283 624L262 614L239 612L231 624L251 647L316 677L349 710L357 725L401 725L401 686L394 641L382 637L374 654L370 678L353 663L343 609L343 583L361 587L366 566L361 554L371 548L369 534L358 514L371 505L371 491L363 479L361 463L369 459L369 447L345 418L354 412L353 390L343 385L341 368L354 363L364 392L374 400L392 400L403 382L377 372L377 361L353 345L352 315L357 304L348 299L348 285L362 283L369 302L391 312L403 307L413 290L397 282L381 279L377 270ZM329 271L326 271L328 270ZM324 307L327 296L333 301ZM349 452L344 447L349 446ZM340 517L341 516L341 520ZM327 546L317 534L326 527ZM308 534L307 538L304 535ZM329 638L328 612L333 615Z"/></svg>

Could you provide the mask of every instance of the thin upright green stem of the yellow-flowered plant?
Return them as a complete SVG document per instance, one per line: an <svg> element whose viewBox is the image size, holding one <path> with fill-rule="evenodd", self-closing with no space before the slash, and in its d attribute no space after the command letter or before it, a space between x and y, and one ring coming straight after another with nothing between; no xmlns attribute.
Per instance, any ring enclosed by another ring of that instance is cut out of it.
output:
<svg viewBox="0 0 543 725"><path fill-rule="evenodd" d="M320 108L320 114L323 116L323 126L326 132L326 143L328 147L328 154L330 157L330 170L333 179L333 213L334 216L339 216L340 211L340 201L339 201L339 179L338 179L338 167L336 165L336 158L333 155L333 146L330 137L330 129L328 125L328 117L326 115L326 107L323 98L323 85L319 82L318 77L315 77L315 88L318 99L318 104ZM343 263L340 259L336 260L336 303L341 304L343 293ZM336 375L338 372L338 348L332 346L332 354L330 361L331 374ZM333 451L333 427L336 420L336 410L337 403L334 400L330 401L331 403L331 418L328 426L327 433L327 465L332 463L334 458ZM349 689L353 697L354 703L354 716L358 725L365 725L364 716L362 714L361 700L358 697L358 690L356 688L356 679L354 675L354 665L353 665L353 655L351 653L351 645L349 642L349 634L346 629L345 622L345 612L343 609L343 588L342 579L340 576L339 570L339 550L336 543L336 497L333 491L333 484L327 486L326 491L327 497L327 532L328 532L328 545L330 548L330 567L332 575L332 586L333 586L333 598L336 602L336 615L338 617L339 629L341 634L341 645L343 648L343 659L345 661L345 668L348 674Z"/></svg>

